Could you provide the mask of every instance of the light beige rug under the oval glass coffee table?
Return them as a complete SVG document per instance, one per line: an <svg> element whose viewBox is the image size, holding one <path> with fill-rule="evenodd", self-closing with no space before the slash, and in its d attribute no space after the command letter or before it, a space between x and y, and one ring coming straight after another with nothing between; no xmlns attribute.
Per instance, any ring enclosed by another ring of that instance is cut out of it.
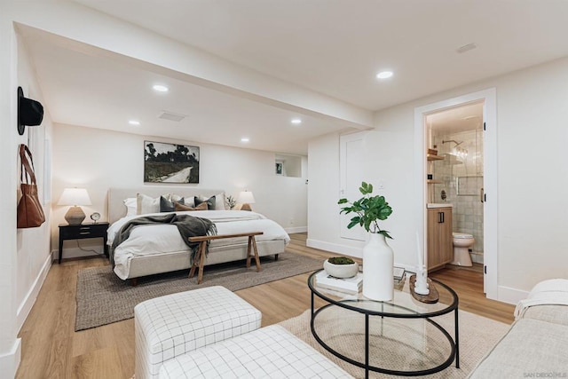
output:
<svg viewBox="0 0 568 379"><path fill-rule="evenodd" d="M380 320L380 318L375 319ZM453 363L452 366L447 367L443 371L432 375L421 376L422 378L455 379L467 377L473 368L476 367L477 362L481 360L487 352L491 351L493 345L497 343L509 330L509 325L507 324L486 319L485 317L477 316L476 314L465 311L459 312L459 319L460 368L456 368L455 363ZM436 320L438 320L439 324L450 332L451 336L454 336L454 312L444 316L439 316ZM341 322L331 321L319 324L321 326L318 328L319 336L324 341L334 343L335 347L345 351L351 358L361 362L365 361L364 336L357 333L351 333L352 328L363 328L364 320L360 318L360 315L356 314L356 312L348 311L344 313L341 320L338 321ZM404 324L406 321L398 319L396 322ZM287 328L292 334L302 339L305 343L310 344L317 351L324 354L328 359L334 361L335 364L342 367L343 370L347 371L350 375L356 378L365 377L364 369L351 365L350 363L335 357L335 355L329 353L319 345L312 336L312 331L310 329L310 311L306 311L293 319L284 320L280 322L280 325ZM445 349L444 346L446 346L447 342L443 339L443 337L438 337L437 339L436 336L438 336L438 334L431 334L433 341L426 342L424 338L415 338L414 336L423 336L423 329L419 328L418 330L412 330L412 327L408 329L411 330L399 328L396 336L393 335L392 338L386 338L382 341L381 345L373 346L370 352L370 361L373 362L380 359L384 365L388 366L391 363L389 360L401 359L409 362L408 364L412 366L412 356L414 354L422 354L422 351L428 351L428 355L435 355ZM371 330L373 330L373 327L371 327ZM331 336L337 337L332 338ZM394 343L393 341L397 342ZM407 345L410 345L411 348L408 349L407 346L403 348L403 343L400 343L399 341L403 341ZM416 346L416 343L418 343L418 346ZM381 354L382 356L378 356ZM398 361L397 365L394 366L398 366L399 364L400 361ZM414 362L414 364L416 364L416 362ZM369 377L395 378L400 376L383 375L370 372Z"/></svg>

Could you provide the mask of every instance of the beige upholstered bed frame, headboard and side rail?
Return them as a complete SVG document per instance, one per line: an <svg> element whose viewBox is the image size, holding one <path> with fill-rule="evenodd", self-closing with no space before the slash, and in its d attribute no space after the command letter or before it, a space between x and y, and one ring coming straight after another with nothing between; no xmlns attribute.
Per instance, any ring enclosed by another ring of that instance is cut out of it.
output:
<svg viewBox="0 0 568 379"><path fill-rule="evenodd" d="M126 206L124 199L136 197L137 193L144 193L151 197L158 197L165 193L175 193L180 196L213 196L224 193L224 190L203 189L197 187L182 186L140 186L132 188L109 188L107 199L107 214L109 223L114 223L121 217L126 216ZM223 199L225 201L225 199ZM286 249L284 241L257 241L258 256L278 255ZM205 265L216 265L225 262L244 260L247 258L248 240L243 239L240 244L222 247L211 247L205 259ZM134 257L130 261L130 272L127 279L135 279L141 276L153 275L155 273L172 272L177 270L189 269L191 262L187 252L158 253L151 257Z"/></svg>

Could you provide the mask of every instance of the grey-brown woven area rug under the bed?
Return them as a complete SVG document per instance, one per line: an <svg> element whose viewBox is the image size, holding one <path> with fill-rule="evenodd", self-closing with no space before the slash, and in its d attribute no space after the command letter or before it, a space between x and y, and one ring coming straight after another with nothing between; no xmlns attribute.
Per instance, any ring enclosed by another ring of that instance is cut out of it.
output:
<svg viewBox="0 0 568 379"><path fill-rule="evenodd" d="M77 276L77 312L75 331L134 317L134 306L145 300L176 292L209 286L223 286L232 291L257 286L321 268L321 259L286 252L278 260L261 257L260 272L244 261L205 266L203 281L197 285L197 274L188 279L189 270L152 275L138 279L138 286L120 280L110 266L92 267L79 271Z"/></svg>

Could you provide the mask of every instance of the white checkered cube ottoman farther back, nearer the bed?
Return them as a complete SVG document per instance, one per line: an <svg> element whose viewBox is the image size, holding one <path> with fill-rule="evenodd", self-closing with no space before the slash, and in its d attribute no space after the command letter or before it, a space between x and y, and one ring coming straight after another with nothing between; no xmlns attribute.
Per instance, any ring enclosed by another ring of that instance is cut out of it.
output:
<svg viewBox="0 0 568 379"><path fill-rule="evenodd" d="M260 328L262 314L224 287L194 289L134 307L136 379L157 378L163 362Z"/></svg>

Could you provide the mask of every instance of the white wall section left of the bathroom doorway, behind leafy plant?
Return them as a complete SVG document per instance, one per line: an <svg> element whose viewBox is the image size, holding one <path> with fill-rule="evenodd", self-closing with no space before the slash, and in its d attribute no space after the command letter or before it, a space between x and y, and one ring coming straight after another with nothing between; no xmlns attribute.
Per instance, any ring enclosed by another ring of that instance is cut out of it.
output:
<svg viewBox="0 0 568 379"><path fill-rule="evenodd" d="M393 209L392 215L381 222L381 228L390 232L389 245L395 250L395 262L410 268L416 257L416 225L413 205L407 199L414 196L412 170L399 170L401 156L412 156L413 134L409 130L371 130L363 144L364 178L375 186L375 194L382 194ZM340 237L339 200L339 134L328 134L311 141L309 160L312 166L308 194L308 246L328 249L354 257L362 257L363 241ZM326 170L313 170L326 167ZM378 185L382 184L383 189ZM357 200L358 198L349 199ZM404 225L401 227L401 225ZM401 254L412 251L413 255Z"/></svg>

